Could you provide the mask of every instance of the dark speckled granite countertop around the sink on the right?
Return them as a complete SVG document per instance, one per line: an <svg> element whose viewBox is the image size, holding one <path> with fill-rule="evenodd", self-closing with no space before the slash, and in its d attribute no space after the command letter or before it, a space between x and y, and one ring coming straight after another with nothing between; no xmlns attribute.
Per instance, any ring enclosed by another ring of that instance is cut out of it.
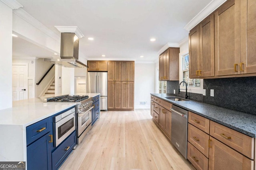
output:
<svg viewBox="0 0 256 170"><path fill-rule="evenodd" d="M250 137L256 137L256 115L227 109L211 104L188 101L173 101L166 97L177 97L170 94L152 94L162 100L170 102L176 106L182 107L188 111L206 117L212 121L230 127L238 132L244 133ZM179 98L179 97L177 97Z"/></svg>

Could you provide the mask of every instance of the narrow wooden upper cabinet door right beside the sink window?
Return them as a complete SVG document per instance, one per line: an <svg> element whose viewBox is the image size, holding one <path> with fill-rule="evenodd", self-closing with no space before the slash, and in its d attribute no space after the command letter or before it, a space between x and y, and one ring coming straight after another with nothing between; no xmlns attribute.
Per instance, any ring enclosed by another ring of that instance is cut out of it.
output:
<svg viewBox="0 0 256 170"><path fill-rule="evenodd" d="M197 78L197 70L199 70L199 26L190 30L188 44L189 78Z"/></svg>

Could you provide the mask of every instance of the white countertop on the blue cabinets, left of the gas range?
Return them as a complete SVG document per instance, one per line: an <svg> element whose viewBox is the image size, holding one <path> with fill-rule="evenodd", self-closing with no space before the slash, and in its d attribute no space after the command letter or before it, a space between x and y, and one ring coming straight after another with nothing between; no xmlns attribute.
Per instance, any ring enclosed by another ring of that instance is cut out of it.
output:
<svg viewBox="0 0 256 170"><path fill-rule="evenodd" d="M43 102L44 98L19 100L12 107L0 110L0 125L22 125L27 127L60 111L75 106L76 103Z"/></svg>

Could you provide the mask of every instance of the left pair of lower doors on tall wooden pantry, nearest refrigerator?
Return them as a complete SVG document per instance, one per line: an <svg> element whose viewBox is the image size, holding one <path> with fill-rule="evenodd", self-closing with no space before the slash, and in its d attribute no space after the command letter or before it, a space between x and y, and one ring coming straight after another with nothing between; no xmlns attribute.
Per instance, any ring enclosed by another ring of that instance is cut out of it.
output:
<svg viewBox="0 0 256 170"><path fill-rule="evenodd" d="M121 82L108 81L108 109L121 108Z"/></svg>

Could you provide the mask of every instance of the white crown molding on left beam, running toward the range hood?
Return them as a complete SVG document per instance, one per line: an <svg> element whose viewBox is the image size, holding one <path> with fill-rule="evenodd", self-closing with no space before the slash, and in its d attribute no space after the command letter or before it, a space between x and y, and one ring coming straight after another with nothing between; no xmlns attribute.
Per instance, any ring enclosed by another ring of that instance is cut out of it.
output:
<svg viewBox="0 0 256 170"><path fill-rule="evenodd" d="M36 20L34 17L32 17L30 14L28 14L25 10L19 8L16 10L12 10L14 14L22 18L23 20L27 21L46 35L52 37L56 41L60 42L60 36L54 33L52 30L50 30L48 27L46 27L44 24Z"/></svg>

